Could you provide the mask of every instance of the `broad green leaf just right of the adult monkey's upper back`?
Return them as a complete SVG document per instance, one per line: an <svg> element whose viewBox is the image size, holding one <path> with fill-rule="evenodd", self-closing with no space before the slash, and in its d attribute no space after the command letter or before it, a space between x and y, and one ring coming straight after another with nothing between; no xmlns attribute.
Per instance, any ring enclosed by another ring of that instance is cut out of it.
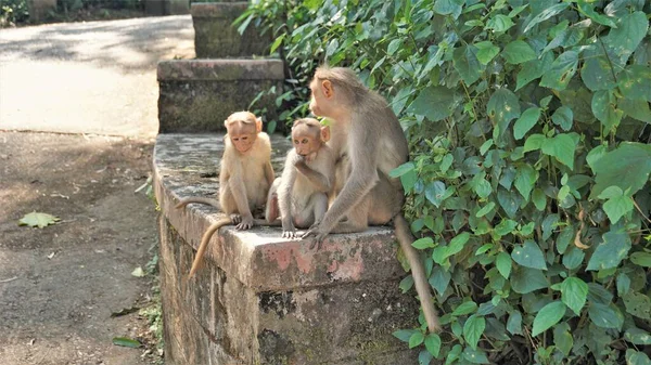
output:
<svg viewBox="0 0 651 365"><path fill-rule="evenodd" d="M438 121L452 115L454 107L454 90L446 87L427 87L407 107L407 112L425 116L432 121Z"/></svg>

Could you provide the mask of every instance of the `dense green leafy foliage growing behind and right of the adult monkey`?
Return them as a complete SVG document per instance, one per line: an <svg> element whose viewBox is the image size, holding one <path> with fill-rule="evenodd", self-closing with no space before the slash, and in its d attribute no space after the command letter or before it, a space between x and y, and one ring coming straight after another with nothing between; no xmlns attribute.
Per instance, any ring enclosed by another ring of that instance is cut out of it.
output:
<svg viewBox="0 0 651 365"><path fill-rule="evenodd" d="M263 0L240 18L288 62L282 118L307 114L322 62L400 118L394 174L446 329L395 334L422 364L650 363L650 8Z"/></svg>

